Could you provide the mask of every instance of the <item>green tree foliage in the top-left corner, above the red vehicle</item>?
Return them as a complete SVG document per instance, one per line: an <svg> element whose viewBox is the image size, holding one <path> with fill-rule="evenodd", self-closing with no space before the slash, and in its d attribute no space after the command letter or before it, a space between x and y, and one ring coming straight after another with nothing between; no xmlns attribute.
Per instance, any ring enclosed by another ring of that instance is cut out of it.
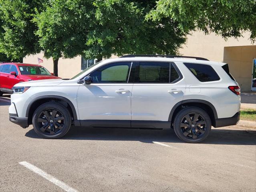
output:
<svg viewBox="0 0 256 192"><path fill-rule="evenodd" d="M40 52L35 9L43 9L46 0L0 0L0 52L12 60Z"/></svg>

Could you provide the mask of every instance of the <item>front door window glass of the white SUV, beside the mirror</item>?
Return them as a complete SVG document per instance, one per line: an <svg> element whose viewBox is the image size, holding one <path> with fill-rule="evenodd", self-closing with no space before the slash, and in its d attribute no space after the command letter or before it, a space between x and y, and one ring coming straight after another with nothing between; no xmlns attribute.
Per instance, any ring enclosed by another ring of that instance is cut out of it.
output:
<svg viewBox="0 0 256 192"><path fill-rule="evenodd" d="M107 64L90 74L92 83L127 83L131 62Z"/></svg>

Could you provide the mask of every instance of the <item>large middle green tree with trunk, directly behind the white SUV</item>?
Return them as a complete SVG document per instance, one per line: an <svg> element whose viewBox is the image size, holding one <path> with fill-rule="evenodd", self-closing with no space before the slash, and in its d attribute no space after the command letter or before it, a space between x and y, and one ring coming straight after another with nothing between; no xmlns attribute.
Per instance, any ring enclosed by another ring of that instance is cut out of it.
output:
<svg viewBox="0 0 256 192"><path fill-rule="evenodd" d="M129 0L58 0L34 18L46 58L108 58L112 54L175 54L186 33L166 18L146 21L154 6ZM155 4L155 3L154 3Z"/></svg>

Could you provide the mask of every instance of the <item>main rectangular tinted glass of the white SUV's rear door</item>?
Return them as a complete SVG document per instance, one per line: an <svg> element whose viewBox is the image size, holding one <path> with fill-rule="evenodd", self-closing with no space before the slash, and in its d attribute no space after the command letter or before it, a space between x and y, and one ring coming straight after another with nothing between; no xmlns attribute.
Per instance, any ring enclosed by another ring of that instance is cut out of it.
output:
<svg viewBox="0 0 256 192"><path fill-rule="evenodd" d="M169 83L170 63L140 62L140 83Z"/></svg>

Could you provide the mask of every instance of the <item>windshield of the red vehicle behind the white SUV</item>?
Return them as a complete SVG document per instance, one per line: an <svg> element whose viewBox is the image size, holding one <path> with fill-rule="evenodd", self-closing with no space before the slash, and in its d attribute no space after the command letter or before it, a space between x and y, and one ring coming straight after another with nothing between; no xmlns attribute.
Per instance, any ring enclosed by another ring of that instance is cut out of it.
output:
<svg viewBox="0 0 256 192"><path fill-rule="evenodd" d="M19 66L22 75L51 75L50 72L41 66Z"/></svg>

